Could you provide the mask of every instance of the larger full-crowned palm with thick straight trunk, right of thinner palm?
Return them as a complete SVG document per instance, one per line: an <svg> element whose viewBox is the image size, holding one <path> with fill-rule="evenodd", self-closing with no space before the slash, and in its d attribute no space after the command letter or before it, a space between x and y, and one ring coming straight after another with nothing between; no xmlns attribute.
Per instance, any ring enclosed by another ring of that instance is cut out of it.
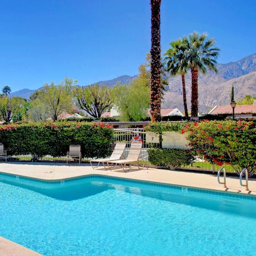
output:
<svg viewBox="0 0 256 256"><path fill-rule="evenodd" d="M198 71L206 73L207 69L217 73L217 57L220 49L214 47L213 38L206 40L207 34L198 35L194 32L189 35L188 50L186 51L188 66L191 68L191 116L198 116Z"/></svg>

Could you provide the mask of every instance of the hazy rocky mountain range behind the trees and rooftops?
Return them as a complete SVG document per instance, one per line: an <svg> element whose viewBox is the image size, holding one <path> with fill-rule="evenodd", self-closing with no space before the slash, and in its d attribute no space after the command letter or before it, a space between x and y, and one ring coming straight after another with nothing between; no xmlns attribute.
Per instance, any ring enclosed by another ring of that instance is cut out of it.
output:
<svg viewBox="0 0 256 256"><path fill-rule="evenodd" d="M256 53L249 55L236 62L218 64L218 74L209 71L206 74L198 74L198 99L199 111L207 113L215 105L228 105L232 85L235 86L235 99L242 99L244 95L250 94L256 97ZM100 81L99 85L113 86L117 82L127 84L136 76L119 76L108 81ZM191 100L191 75L186 75L186 90L188 109ZM170 77L166 87L162 108L183 107L181 77ZM35 90L23 89L11 93L14 96L28 98Z"/></svg>

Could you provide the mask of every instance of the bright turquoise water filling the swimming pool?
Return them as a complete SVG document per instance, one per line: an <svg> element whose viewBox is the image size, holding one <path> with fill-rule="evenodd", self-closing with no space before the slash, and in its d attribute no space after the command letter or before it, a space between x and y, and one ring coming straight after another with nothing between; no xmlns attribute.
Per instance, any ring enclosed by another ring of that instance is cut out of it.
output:
<svg viewBox="0 0 256 256"><path fill-rule="evenodd" d="M255 200L188 190L0 175L0 236L45 256L256 255Z"/></svg>

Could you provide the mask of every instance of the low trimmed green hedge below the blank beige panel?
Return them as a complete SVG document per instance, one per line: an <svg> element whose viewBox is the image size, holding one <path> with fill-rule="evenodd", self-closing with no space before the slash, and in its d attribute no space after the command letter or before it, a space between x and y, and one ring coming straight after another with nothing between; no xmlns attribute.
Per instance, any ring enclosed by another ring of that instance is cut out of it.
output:
<svg viewBox="0 0 256 256"><path fill-rule="evenodd" d="M194 157L189 150L174 148L151 148L148 149L148 159L151 164L167 166L170 169L180 169L181 165L188 165Z"/></svg>

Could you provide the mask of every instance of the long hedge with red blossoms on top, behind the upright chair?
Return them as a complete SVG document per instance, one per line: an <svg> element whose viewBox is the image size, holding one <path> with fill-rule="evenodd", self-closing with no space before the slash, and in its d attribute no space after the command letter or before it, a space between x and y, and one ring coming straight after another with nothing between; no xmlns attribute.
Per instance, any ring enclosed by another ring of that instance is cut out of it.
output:
<svg viewBox="0 0 256 256"><path fill-rule="evenodd" d="M65 156L69 145L81 145L82 156L109 154L112 126L103 123L46 122L0 126L0 142L7 154Z"/></svg>

